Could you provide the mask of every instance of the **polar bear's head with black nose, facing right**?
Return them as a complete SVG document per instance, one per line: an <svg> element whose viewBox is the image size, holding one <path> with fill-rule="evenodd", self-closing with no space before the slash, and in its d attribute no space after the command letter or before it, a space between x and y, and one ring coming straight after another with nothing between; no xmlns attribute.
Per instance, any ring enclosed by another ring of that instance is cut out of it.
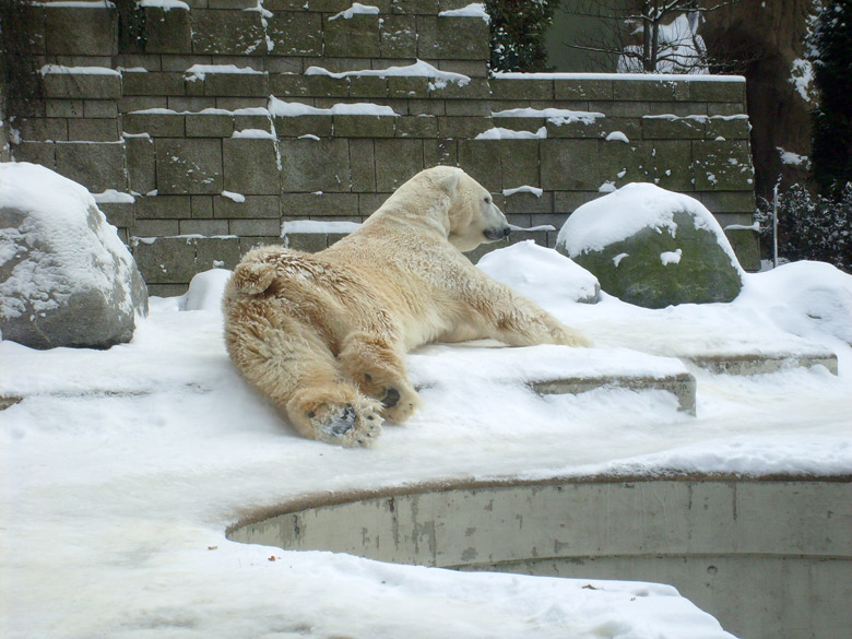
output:
<svg viewBox="0 0 852 639"><path fill-rule="evenodd" d="M448 239L460 251L504 239L511 233L492 194L460 168L435 167L441 186L450 194L447 211Z"/></svg>

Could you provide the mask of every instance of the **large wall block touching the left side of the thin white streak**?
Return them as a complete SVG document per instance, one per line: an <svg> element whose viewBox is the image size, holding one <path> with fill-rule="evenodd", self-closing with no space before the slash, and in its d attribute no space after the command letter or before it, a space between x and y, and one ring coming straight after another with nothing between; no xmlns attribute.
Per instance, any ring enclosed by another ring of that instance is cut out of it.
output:
<svg viewBox="0 0 852 639"><path fill-rule="evenodd" d="M252 194L277 194L281 191L275 140L262 138L226 138L222 141L225 190Z"/></svg>

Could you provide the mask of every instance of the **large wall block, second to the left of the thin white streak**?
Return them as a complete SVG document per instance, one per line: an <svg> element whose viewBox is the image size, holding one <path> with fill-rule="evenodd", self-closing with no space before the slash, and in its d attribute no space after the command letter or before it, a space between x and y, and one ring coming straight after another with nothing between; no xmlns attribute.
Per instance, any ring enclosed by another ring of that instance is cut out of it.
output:
<svg viewBox="0 0 852 639"><path fill-rule="evenodd" d="M155 144L157 191L161 194L222 192L220 140L164 138Z"/></svg>

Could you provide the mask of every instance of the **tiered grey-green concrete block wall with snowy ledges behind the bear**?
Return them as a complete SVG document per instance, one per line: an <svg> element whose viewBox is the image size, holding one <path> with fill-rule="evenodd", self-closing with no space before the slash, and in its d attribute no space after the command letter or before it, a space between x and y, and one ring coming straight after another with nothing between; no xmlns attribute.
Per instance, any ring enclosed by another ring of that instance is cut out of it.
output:
<svg viewBox="0 0 852 639"><path fill-rule="evenodd" d="M466 1L369 4L40 4L45 102L12 152L97 193L153 294L258 244L324 248L340 235L282 230L362 221L436 164L464 168L524 227L558 230L630 181L689 193L723 226L752 223L742 81L489 78L487 23L441 14ZM754 238L738 241L754 267Z"/></svg>

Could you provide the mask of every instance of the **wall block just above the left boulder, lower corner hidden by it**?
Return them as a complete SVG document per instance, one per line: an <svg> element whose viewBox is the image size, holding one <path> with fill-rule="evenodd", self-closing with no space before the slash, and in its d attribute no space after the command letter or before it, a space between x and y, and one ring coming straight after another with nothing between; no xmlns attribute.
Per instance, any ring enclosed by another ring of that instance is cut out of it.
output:
<svg viewBox="0 0 852 639"><path fill-rule="evenodd" d="M128 190L123 143L61 142L56 147L56 170L90 191Z"/></svg>

